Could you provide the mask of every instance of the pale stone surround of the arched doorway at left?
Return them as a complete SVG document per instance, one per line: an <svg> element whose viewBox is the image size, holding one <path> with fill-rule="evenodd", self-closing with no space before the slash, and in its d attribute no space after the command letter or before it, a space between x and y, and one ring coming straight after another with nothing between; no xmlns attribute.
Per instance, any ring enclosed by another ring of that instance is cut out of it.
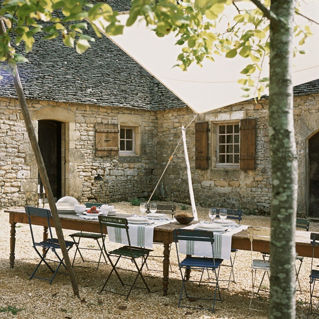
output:
<svg viewBox="0 0 319 319"><path fill-rule="evenodd" d="M80 138L80 133L75 130L75 112L59 106L48 105L33 111L31 119L33 121L53 120L62 122L62 196L68 194L78 197L82 191L82 179L77 176L77 162L82 162L82 156L80 151L75 149L75 141ZM32 170L37 171L37 167L31 167L31 171ZM36 191L36 189L34 191Z"/></svg>

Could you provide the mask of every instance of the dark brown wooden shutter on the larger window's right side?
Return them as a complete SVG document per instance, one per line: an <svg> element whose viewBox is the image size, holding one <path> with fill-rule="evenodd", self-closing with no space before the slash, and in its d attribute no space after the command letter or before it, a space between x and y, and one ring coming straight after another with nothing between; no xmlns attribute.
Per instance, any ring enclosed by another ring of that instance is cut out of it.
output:
<svg viewBox="0 0 319 319"><path fill-rule="evenodd" d="M255 169L256 119L240 121L240 169Z"/></svg>

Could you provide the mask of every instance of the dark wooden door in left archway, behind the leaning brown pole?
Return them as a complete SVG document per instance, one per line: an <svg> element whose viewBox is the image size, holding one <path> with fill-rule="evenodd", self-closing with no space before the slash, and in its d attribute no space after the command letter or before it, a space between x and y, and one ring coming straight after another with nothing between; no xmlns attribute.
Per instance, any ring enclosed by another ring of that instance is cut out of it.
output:
<svg viewBox="0 0 319 319"><path fill-rule="evenodd" d="M39 147L47 170L53 196L61 197L61 123L42 120L38 123ZM42 181L38 175L42 192Z"/></svg>

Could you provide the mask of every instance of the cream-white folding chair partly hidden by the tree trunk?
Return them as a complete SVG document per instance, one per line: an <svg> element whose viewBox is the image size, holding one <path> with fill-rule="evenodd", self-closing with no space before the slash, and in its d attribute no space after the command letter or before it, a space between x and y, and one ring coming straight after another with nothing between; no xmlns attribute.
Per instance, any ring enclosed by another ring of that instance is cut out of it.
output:
<svg viewBox="0 0 319 319"><path fill-rule="evenodd" d="M250 226L250 227L248 227L248 231L249 231L250 249L251 249L251 281L252 281L251 298L250 298L250 303L249 303L249 313L250 313L250 310L263 311L260 309L252 308L252 302L253 302L254 293L255 293L254 288L258 287L256 294L258 294L259 291L269 292L268 290L262 289L261 285L263 283L263 279L264 279L266 273L268 275L268 278L270 277L270 261L269 260L253 259L253 240L260 239L260 240L270 241L270 228ZM262 280L258 286L255 285L257 271L263 271L263 277L262 277ZM267 303L264 301L257 301L257 300L256 300L256 302Z"/></svg>

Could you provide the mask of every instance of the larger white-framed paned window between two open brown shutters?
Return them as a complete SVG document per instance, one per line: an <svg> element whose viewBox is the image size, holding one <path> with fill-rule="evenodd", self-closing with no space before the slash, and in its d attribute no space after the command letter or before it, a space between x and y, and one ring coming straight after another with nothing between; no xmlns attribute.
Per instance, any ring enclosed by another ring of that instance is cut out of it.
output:
<svg viewBox="0 0 319 319"><path fill-rule="evenodd" d="M239 167L239 123L217 125L217 166Z"/></svg>

